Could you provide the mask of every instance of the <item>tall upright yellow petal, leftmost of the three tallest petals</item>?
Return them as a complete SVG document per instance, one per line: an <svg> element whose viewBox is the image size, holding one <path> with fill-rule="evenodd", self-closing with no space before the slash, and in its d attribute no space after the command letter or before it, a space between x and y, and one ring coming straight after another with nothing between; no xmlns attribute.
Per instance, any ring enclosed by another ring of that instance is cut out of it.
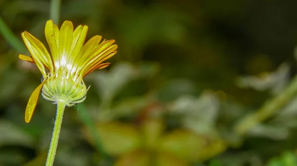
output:
<svg viewBox="0 0 297 166"><path fill-rule="evenodd" d="M57 25L53 24L52 20L47 21L46 28L45 28L45 35L47 42L49 43L49 49L52 56L52 60L54 63L55 68L59 68L58 62L60 53L58 50L59 44L59 28Z"/></svg>

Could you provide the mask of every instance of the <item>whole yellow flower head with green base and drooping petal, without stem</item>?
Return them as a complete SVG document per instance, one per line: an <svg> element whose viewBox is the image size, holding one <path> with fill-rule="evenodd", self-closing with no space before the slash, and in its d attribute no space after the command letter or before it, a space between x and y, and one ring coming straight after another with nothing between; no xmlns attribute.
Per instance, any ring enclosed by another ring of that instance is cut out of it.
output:
<svg viewBox="0 0 297 166"><path fill-rule="evenodd" d="M96 69L103 69L110 63L102 63L116 53L114 40L101 41L101 36L94 36L85 42L88 26L79 25L75 30L71 21L65 21L60 30L49 20L45 36L50 53L45 45L28 32L22 38L31 57L19 55L19 58L35 63L43 75L42 83L33 91L25 112L25 121L30 122L39 93L45 99L67 106L85 100L87 87L83 77Z"/></svg>

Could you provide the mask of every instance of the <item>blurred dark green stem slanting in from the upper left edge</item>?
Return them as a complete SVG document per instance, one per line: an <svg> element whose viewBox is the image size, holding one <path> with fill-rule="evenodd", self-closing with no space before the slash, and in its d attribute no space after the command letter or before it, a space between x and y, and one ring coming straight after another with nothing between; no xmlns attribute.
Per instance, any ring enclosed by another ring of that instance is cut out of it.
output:
<svg viewBox="0 0 297 166"><path fill-rule="evenodd" d="M0 34L3 38L18 52L26 52L26 47L8 28L5 22L0 17Z"/></svg>

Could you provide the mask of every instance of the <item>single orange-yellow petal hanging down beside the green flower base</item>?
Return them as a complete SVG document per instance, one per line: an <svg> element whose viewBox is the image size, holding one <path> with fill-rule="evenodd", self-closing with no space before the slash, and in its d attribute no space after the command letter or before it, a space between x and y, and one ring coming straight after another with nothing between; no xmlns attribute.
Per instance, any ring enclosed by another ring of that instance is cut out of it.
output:
<svg viewBox="0 0 297 166"><path fill-rule="evenodd" d="M44 82L42 82L31 94L27 107L26 107L26 111L25 111L25 122L29 123L31 121L31 118L33 116L34 113L34 109L36 107L37 104L37 100L39 98L39 93L40 90L42 88L42 86L47 82L48 80L46 79Z"/></svg>

